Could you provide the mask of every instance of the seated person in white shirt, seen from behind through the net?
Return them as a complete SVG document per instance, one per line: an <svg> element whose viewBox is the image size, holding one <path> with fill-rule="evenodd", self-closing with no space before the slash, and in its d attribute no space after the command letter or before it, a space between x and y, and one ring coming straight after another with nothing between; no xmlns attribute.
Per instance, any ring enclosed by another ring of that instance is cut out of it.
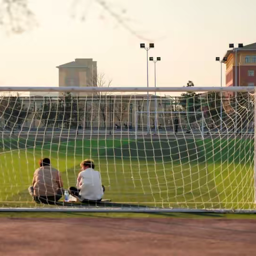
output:
<svg viewBox="0 0 256 256"><path fill-rule="evenodd" d="M77 177L76 188L70 187L69 194L84 203L100 202L105 191L101 184L100 172L94 170L94 162L91 159L84 160L80 166L81 172Z"/></svg>

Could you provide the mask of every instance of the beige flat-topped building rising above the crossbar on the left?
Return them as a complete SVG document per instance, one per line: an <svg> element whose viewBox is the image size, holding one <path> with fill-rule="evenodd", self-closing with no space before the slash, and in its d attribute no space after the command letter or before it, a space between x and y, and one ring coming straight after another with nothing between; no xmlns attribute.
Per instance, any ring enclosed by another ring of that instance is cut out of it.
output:
<svg viewBox="0 0 256 256"><path fill-rule="evenodd" d="M60 87L97 86L97 61L75 59L57 67Z"/></svg>

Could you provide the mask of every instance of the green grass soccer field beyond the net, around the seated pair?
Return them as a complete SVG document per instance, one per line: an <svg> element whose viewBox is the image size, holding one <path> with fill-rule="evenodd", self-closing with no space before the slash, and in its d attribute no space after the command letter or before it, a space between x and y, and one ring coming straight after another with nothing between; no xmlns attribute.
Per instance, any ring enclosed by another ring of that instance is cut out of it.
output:
<svg viewBox="0 0 256 256"><path fill-rule="evenodd" d="M105 198L135 206L253 209L253 141L249 139L101 139L0 141L0 207L34 207L27 188L41 157L65 187L93 158Z"/></svg>

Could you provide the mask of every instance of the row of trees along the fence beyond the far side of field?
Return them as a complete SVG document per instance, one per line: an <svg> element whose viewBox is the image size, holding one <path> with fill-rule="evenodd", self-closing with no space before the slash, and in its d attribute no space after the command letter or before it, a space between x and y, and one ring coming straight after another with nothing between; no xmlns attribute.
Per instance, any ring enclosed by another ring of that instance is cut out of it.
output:
<svg viewBox="0 0 256 256"><path fill-rule="evenodd" d="M110 86L111 84L111 81L106 83L102 75L97 79L97 86L99 87ZM188 81L187 87L193 86L194 83ZM166 105L166 100L163 102L162 98L157 101L157 111L162 112L157 115L158 125L169 125L173 112L182 111L185 113L203 113L205 125L210 128L219 127L222 108L222 119L225 120L227 127L231 127L234 126L235 102L238 129L243 129L246 120L253 119L252 102L250 97L248 98L248 95L244 93L238 94L233 99L222 100L222 103L220 93L208 92L199 94L186 92L182 93L181 96L175 102L175 107L171 103ZM106 129L110 123L112 126L127 127L130 125L127 122L131 122L131 111L133 122L135 122L134 111L141 111L139 109L136 110L136 106L133 106L133 109L131 108L131 98L106 92L93 93L81 99L70 93L64 93L60 97L42 97L40 105L37 102L35 103L33 99L25 99L20 97L19 94L0 97L2 129L20 129L22 125L25 126L27 121L37 121L35 125L45 129L80 129L82 127L89 129L93 125ZM145 102L144 104L146 104ZM188 124L195 122L195 116L198 119L202 118L201 115L188 114L186 122ZM156 115L154 113L150 114L150 123L153 126L155 125L155 118Z"/></svg>

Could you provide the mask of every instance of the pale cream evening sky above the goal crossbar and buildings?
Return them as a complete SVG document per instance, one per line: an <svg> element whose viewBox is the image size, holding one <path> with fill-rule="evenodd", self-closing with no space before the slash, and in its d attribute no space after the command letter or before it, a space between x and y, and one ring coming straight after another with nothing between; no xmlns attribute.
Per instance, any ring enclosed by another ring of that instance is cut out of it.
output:
<svg viewBox="0 0 256 256"><path fill-rule="evenodd" d="M140 43L149 42L155 43L149 57L162 58L157 86L184 86L188 80L220 86L215 57L223 57L229 43L256 42L255 0L105 0L127 27L99 2L30 0L35 26L22 34L0 27L0 86L58 86L56 66L76 58L98 61L98 72L112 86L147 86Z"/></svg>

